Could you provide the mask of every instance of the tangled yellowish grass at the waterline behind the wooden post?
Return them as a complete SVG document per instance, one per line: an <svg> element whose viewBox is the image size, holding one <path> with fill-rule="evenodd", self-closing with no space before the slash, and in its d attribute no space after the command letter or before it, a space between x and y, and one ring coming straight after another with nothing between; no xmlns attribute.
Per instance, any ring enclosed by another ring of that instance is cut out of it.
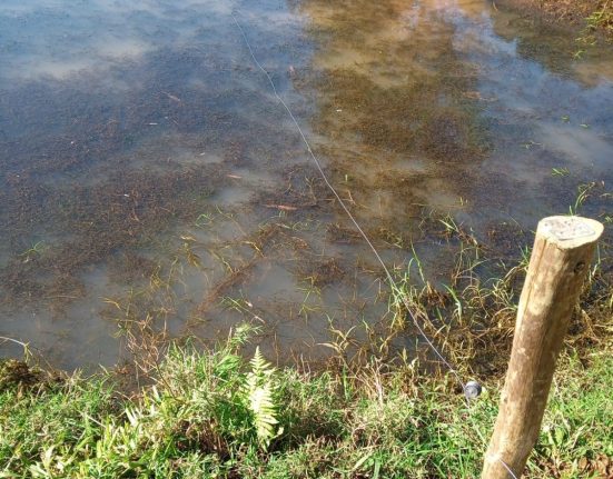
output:
<svg viewBox="0 0 613 479"><path fill-rule="evenodd" d="M403 301L406 298L413 309L429 317L424 323L426 332L465 375L501 376L508 359L530 249L522 249L510 267L508 258L496 258L490 245L477 240L452 217L439 221L444 227L442 234L457 242L454 267L445 280L433 285L413 250L413 259L390 296L390 310L395 315L392 330L411 329ZM611 328L613 319L612 302L607 300L612 293L610 248L609 239L603 240L581 307L571 321L567 342L581 345L581 356L583 346L605 342L609 337L600 331Z"/></svg>

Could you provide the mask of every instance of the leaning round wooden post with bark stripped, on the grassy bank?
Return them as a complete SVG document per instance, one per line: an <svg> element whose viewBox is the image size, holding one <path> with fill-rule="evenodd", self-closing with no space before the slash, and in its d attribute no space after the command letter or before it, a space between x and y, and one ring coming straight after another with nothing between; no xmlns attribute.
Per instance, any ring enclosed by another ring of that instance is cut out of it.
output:
<svg viewBox="0 0 613 479"><path fill-rule="evenodd" d="M538 438L557 355L602 232L600 222L580 217L538 222L482 479L522 476Z"/></svg>

